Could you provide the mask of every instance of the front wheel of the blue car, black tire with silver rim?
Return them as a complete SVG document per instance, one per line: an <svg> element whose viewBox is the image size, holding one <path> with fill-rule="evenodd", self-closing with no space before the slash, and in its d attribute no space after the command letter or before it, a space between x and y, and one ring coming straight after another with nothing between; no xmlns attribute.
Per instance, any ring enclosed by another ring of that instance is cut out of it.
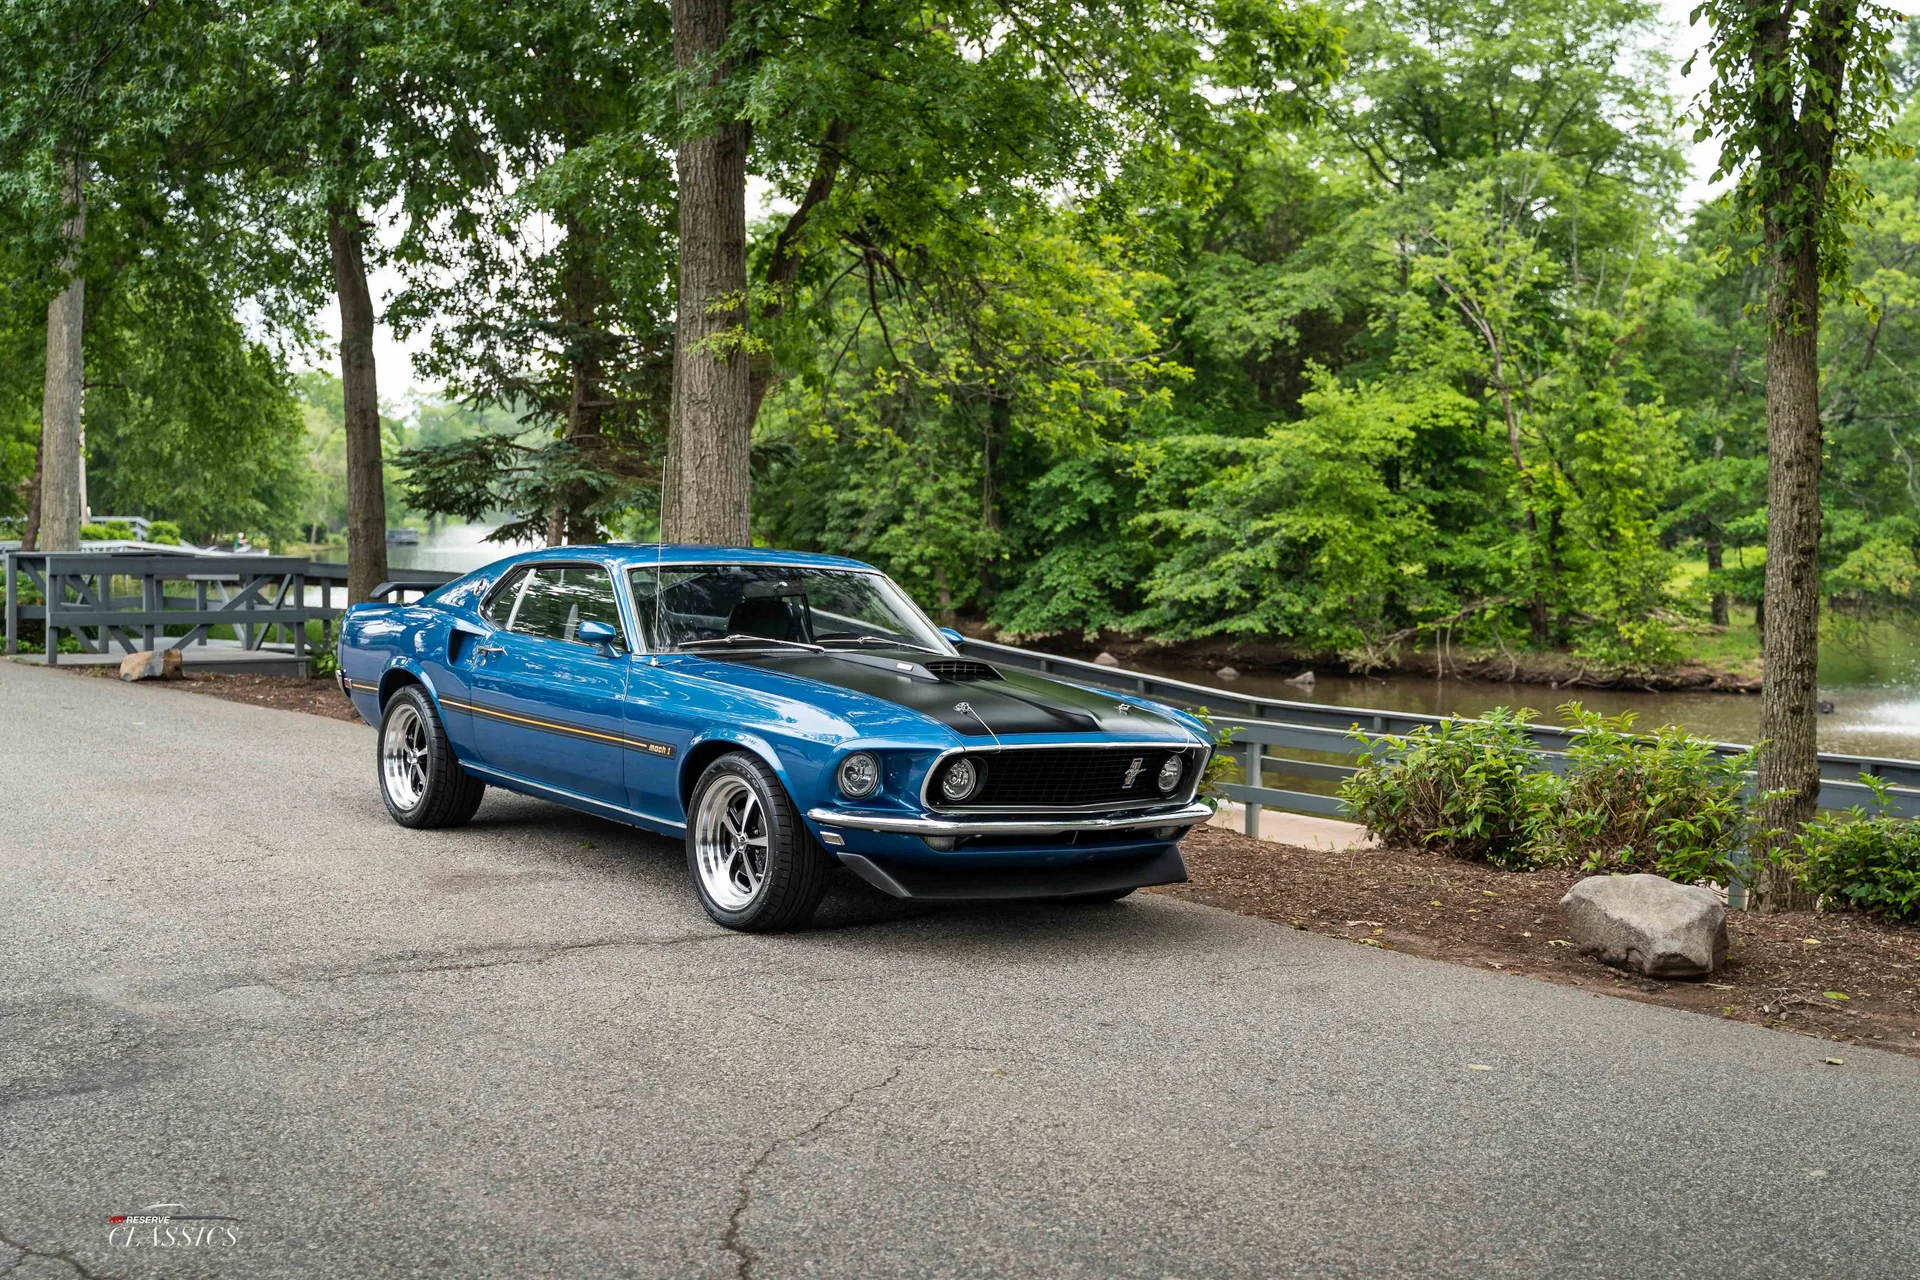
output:
<svg viewBox="0 0 1920 1280"><path fill-rule="evenodd" d="M829 871L828 852L758 756L728 752L693 783L687 873L716 925L743 933L804 925Z"/></svg>

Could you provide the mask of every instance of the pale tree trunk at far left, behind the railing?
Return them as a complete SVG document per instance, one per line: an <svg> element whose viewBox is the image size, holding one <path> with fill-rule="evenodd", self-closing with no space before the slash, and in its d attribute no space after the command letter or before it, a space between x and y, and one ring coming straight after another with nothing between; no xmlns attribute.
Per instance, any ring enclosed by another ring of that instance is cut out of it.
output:
<svg viewBox="0 0 1920 1280"><path fill-rule="evenodd" d="M38 551L77 551L81 545L81 397L86 376L86 278L79 249L86 240L86 169L67 161L67 251L60 269L67 288L46 305L46 391L40 401L40 524Z"/></svg>

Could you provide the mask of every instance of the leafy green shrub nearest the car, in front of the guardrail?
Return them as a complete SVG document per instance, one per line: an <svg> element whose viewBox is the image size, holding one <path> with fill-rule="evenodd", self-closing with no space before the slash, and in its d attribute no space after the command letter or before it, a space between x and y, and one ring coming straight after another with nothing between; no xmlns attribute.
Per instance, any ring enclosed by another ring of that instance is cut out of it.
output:
<svg viewBox="0 0 1920 1280"><path fill-rule="evenodd" d="M1559 791L1557 777L1536 771L1524 731L1530 716L1496 706L1482 720L1446 720L1367 743L1357 771L1340 785L1340 802L1386 844L1526 867L1534 829Z"/></svg>

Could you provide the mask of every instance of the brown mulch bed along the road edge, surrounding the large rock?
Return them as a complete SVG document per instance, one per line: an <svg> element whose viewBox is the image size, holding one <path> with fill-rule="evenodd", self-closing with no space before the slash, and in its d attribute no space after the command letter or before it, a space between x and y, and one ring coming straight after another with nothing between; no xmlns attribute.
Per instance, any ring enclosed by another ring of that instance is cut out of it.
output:
<svg viewBox="0 0 1920 1280"><path fill-rule="evenodd" d="M1156 892L1363 946L1920 1057L1920 927L1851 912L1732 912L1726 967L1661 983L1567 944L1559 898L1580 871L1500 871L1404 848L1327 852L1219 827L1194 827L1181 852L1190 883Z"/></svg>

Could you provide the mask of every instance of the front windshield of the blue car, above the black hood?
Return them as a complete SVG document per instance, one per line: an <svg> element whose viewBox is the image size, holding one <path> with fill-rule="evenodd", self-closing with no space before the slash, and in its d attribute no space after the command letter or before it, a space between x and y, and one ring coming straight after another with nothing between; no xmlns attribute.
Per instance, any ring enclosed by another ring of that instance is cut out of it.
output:
<svg viewBox="0 0 1920 1280"><path fill-rule="evenodd" d="M906 593L879 574L785 564L682 564L636 568L632 581L634 610L655 652L793 645L910 645L954 652Z"/></svg>

